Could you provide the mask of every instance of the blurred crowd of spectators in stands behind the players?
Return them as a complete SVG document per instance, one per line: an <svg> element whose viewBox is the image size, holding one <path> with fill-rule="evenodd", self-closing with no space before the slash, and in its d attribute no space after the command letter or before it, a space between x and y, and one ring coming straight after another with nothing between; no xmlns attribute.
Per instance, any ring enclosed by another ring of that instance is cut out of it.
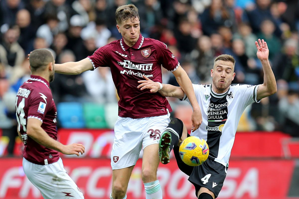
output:
<svg viewBox="0 0 299 199"><path fill-rule="evenodd" d="M48 48L56 63L79 61L121 38L115 10L133 3L141 33L158 39L178 58L194 84L210 84L220 54L237 60L233 84L262 84L254 42L264 38L278 91L245 112L245 130L281 130L299 136L298 0L0 0L0 128L15 131L15 96L30 75L27 54ZM178 85L171 72L163 83ZM117 103L110 69L55 74L60 102ZM169 99L174 112L179 101ZM242 119L241 122L242 123ZM246 125L245 125L246 126Z"/></svg>

